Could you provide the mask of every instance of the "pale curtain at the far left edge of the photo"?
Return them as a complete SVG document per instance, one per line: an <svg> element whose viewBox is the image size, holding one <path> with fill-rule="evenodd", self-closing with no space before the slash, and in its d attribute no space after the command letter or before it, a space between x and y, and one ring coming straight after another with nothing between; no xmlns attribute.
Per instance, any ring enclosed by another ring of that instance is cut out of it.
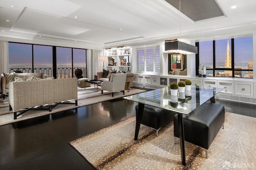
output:
<svg viewBox="0 0 256 170"><path fill-rule="evenodd" d="M8 73L8 42L0 41L0 73Z"/></svg>

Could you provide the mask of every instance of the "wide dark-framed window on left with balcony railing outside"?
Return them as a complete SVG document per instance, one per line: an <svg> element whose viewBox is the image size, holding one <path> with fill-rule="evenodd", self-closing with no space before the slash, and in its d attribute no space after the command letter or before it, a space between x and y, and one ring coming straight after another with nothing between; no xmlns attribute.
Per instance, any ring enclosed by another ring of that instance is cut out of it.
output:
<svg viewBox="0 0 256 170"><path fill-rule="evenodd" d="M24 73L43 72L49 77L68 78L74 76L77 68L82 69L86 77L86 49L9 42L10 73L18 69Z"/></svg>

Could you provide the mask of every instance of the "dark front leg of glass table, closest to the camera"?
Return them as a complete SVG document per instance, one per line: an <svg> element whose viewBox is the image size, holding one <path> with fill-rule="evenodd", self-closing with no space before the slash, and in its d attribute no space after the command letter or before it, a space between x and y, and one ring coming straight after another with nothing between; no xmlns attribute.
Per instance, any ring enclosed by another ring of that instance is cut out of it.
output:
<svg viewBox="0 0 256 170"><path fill-rule="evenodd" d="M182 162L182 165L186 166L183 116L181 113L178 113L178 128L179 128L179 137L180 137L181 162Z"/></svg>

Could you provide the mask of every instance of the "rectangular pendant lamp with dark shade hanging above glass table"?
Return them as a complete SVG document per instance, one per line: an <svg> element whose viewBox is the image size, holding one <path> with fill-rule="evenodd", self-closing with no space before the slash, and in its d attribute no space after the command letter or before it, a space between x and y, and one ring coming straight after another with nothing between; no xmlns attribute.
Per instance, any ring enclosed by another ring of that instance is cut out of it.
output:
<svg viewBox="0 0 256 170"><path fill-rule="evenodd" d="M169 51L170 53L181 53L181 54L196 54L197 47L194 45L190 45L188 43L179 42L179 41L170 41L165 42L165 51Z"/></svg>

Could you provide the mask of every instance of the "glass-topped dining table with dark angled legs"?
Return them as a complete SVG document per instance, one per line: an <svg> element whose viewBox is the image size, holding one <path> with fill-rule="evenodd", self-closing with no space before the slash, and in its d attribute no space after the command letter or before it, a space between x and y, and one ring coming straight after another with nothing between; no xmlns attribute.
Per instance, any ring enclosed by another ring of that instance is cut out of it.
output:
<svg viewBox="0 0 256 170"><path fill-rule="evenodd" d="M163 87L136 95L124 97L124 99L138 102L138 115L136 117L136 127L134 140L138 140L140 123L142 120L144 105L150 105L161 109L166 109L178 113L178 130L180 136L180 151L182 164L186 166L185 145L184 145L184 127L183 116L188 115L200 105L208 100L215 103L214 95L222 91L221 88L199 87L192 85L190 91L178 93L173 96L170 87Z"/></svg>

